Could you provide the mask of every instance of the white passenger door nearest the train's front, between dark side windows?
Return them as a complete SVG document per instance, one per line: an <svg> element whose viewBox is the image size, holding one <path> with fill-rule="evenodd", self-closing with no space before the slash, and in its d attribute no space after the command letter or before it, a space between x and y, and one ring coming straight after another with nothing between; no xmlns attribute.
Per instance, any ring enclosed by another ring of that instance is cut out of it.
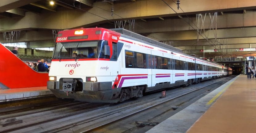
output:
<svg viewBox="0 0 256 133"><path fill-rule="evenodd" d="M147 86L151 87L152 86L152 66L153 66L153 61L152 61L152 56L151 56L151 50L147 50L147 70L148 70L148 75L147 75Z"/></svg>

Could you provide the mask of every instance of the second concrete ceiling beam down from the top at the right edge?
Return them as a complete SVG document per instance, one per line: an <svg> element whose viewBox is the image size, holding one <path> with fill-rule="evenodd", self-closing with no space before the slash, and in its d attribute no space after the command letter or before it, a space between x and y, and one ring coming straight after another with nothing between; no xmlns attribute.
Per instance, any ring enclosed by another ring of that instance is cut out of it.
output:
<svg viewBox="0 0 256 133"><path fill-rule="evenodd" d="M246 13L224 13L217 16L217 29L256 27L256 11L247 10ZM214 21L215 22L215 21ZM210 27L210 19L206 17L204 27ZM168 32L168 31L187 31L197 29L196 17L183 17L183 19L165 19L154 21L136 21L134 32L151 33L151 32ZM200 26L199 26L200 27Z"/></svg>

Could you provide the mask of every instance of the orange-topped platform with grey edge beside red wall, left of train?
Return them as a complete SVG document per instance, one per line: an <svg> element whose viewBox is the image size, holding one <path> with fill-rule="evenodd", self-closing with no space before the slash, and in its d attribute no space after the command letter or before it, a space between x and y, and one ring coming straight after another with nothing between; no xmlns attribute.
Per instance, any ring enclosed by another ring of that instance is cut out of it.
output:
<svg viewBox="0 0 256 133"><path fill-rule="evenodd" d="M0 89L0 102L16 101L53 95L51 90L44 87L31 87L19 89Z"/></svg>

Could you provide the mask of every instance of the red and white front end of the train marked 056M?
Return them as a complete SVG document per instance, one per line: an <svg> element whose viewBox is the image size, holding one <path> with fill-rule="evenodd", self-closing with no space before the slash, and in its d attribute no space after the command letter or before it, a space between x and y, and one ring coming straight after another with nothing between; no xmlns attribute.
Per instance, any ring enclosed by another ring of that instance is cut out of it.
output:
<svg viewBox="0 0 256 133"><path fill-rule="evenodd" d="M47 89L58 98L87 102L118 102L112 88L118 70L112 36L107 29L89 28L58 33ZM117 41L117 40L116 40Z"/></svg>

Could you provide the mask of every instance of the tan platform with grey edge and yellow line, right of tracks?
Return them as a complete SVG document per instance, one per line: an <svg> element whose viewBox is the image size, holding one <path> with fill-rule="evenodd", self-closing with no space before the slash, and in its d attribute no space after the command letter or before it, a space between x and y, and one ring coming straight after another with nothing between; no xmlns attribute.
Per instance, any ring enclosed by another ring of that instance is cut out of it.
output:
<svg viewBox="0 0 256 133"><path fill-rule="evenodd" d="M238 75L147 133L254 133L256 78Z"/></svg>

